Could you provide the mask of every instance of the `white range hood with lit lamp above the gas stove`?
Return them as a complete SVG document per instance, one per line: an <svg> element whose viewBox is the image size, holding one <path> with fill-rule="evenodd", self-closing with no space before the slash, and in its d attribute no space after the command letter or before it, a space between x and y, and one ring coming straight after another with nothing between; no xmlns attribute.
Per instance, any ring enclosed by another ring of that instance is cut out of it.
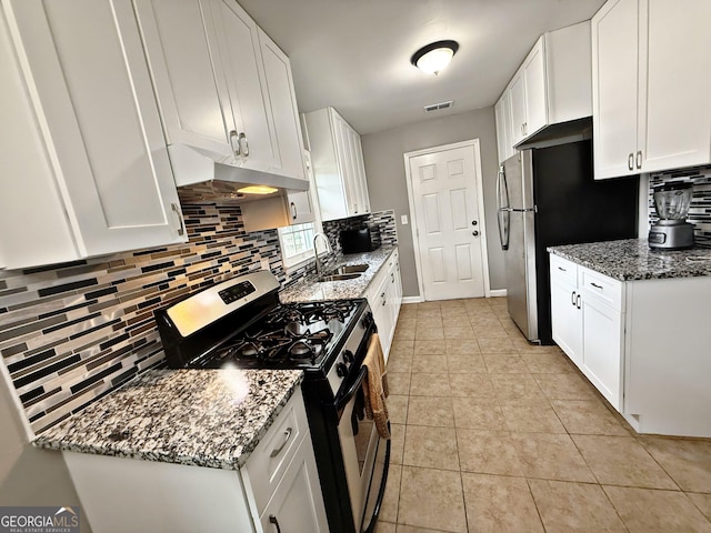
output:
<svg viewBox="0 0 711 533"><path fill-rule="evenodd" d="M187 144L168 147L173 177L181 202L206 201L253 202L284 197L287 191L308 191L309 182L298 178L247 169L229 162L214 153ZM249 185L267 185L277 189L271 194L238 192Z"/></svg>

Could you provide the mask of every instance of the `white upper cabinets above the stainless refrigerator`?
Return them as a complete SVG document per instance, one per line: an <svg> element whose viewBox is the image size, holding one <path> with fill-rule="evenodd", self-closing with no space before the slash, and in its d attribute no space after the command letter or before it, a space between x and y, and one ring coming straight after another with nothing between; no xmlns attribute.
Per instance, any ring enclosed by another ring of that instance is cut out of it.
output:
<svg viewBox="0 0 711 533"><path fill-rule="evenodd" d="M499 161L550 124L592 114L590 22L542 34L494 105Z"/></svg>

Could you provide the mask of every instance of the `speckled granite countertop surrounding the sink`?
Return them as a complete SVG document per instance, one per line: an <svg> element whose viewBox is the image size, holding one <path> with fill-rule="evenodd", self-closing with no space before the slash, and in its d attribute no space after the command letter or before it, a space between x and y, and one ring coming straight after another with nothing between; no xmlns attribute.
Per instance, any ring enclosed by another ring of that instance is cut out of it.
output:
<svg viewBox="0 0 711 533"><path fill-rule="evenodd" d="M368 270L353 280L319 282L316 281L316 276L308 278L279 293L279 300L282 303L292 303L363 298L372 279L395 250L395 247L381 247L372 252L344 255L336 266L368 264Z"/></svg>

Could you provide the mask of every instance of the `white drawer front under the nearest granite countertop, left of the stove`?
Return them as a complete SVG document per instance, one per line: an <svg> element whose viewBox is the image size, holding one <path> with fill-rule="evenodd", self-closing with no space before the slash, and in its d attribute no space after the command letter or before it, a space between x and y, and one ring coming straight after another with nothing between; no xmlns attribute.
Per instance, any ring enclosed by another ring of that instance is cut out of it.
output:
<svg viewBox="0 0 711 533"><path fill-rule="evenodd" d="M260 513L271 499L308 431L303 398L301 391L297 391L247 460L242 471L249 477L247 486L251 485Z"/></svg>

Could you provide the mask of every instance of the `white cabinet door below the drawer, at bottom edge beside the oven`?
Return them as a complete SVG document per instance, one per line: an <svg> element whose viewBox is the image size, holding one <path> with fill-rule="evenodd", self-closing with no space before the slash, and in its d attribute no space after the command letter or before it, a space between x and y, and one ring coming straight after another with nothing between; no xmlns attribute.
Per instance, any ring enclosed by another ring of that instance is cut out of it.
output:
<svg viewBox="0 0 711 533"><path fill-rule="evenodd" d="M260 517L267 533L328 533L311 439L301 442Z"/></svg>

